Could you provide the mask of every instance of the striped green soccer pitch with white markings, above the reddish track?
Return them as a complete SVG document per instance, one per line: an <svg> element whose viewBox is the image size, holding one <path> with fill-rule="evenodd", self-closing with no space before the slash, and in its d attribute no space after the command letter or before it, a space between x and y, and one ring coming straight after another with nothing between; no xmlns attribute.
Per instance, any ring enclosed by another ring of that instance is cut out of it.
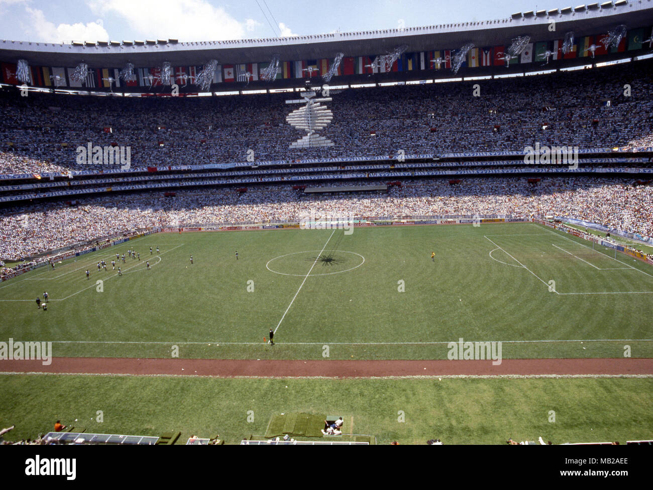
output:
<svg viewBox="0 0 653 490"><path fill-rule="evenodd" d="M161 233L39 268L0 285L0 339L51 340L54 356L168 357L178 345L182 358L320 359L329 345L332 359L426 359L464 338L503 341L504 358L620 357L626 344L653 357L653 267L632 257L532 223L331 235ZM97 271L132 247L142 260L120 263L123 276ZM323 248L332 260L306 278ZM35 305L44 290L47 312Z"/></svg>

